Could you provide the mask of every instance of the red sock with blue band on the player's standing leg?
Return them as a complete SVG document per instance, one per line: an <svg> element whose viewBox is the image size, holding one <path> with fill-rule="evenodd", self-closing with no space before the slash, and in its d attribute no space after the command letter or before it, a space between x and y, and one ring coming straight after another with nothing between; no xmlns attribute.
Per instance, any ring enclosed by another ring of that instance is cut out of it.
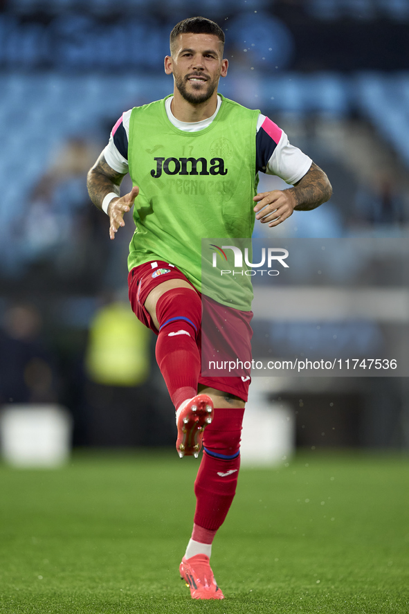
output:
<svg viewBox="0 0 409 614"><path fill-rule="evenodd" d="M216 531L233 502L243 415L244 408L215 408L215 418L203 433L203 457L194 482L194 524L203 529Z"/></svg>

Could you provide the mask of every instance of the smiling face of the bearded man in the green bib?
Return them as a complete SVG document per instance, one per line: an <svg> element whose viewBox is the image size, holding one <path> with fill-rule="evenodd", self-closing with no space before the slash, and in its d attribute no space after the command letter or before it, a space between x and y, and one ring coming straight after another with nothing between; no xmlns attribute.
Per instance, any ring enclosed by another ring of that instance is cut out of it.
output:
<svg viewBox="0 0 409 614"><path fill-rule="evenodd" d="M165 57L165 73L173 74L181 96L192 105L206 102L227 74L223 44L212 34L180 34Z"/></svg>

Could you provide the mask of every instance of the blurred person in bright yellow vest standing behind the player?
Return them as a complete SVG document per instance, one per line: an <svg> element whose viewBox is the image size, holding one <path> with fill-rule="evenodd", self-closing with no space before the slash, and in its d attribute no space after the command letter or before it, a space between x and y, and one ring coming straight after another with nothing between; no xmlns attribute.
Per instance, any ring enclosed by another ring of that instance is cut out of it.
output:
<svg viewBox="0 0 409 614"><path fill-rule="evenodd" d="M156 444L167 444L170 428L163 426L158 417L161 408L156 406L165 397L160 390L154 392L148 381L150 341L152 334L134 316L129 303L113 300L91 320L84 399L89 444L149 445L154 443L152 433ZM174 413L168 414L172 419ZM155 424L161 424L161 431Z"/></svg>

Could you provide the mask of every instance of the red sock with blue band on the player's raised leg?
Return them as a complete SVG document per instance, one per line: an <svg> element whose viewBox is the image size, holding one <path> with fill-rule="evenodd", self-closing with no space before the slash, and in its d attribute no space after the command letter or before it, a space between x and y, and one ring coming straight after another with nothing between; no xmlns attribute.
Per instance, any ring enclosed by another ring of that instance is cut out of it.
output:
<svg viewBox="0 0 409 614"><path fill-rule="evenodd" d="M168 290L156 303L156 317L159 323L156 360L177 409L185 399L197 395L201 299L189 288Z"/></svg>

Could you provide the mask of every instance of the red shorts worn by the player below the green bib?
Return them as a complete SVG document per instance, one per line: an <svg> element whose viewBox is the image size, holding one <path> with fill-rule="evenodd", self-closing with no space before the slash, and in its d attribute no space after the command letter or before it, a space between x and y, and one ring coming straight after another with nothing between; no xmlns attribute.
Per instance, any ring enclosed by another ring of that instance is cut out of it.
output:
<svg viewBox="0 0 409 614"><path fill-rule="evenodd" d="M202 296L172 264L163 260L145 262L129 272L129 300L138 320L156 335L158 330L145 309L145 300L156 286L170 279L188 282L202 300L202 326L198 338L202 364L199 383L247 401L251 383L248 365L251 363L252 311L239 311Z"/></svg>

